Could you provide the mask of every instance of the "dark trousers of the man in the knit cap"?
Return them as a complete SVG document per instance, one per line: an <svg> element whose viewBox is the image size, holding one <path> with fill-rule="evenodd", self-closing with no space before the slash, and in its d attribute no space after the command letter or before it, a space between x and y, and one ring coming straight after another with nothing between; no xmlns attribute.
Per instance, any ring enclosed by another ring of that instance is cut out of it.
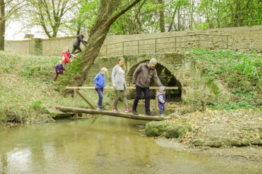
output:
<svg viewBox="0 0 262 174"><path fill-rule="evenodd" d="M136 96L133 104L133 110L136 111L137 103L141 98L142 91L145 95L145 108L146 112L150 111L150 96L149 96L149 87L148 88L141 88L140 86L136 86Z"/></svg>

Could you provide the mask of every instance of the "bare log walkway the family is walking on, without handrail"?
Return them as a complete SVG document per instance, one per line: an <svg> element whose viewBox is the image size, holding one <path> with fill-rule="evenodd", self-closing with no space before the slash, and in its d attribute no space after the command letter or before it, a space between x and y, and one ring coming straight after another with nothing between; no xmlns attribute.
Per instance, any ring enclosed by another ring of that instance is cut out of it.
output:
<svg viewBox="0 0 262 174"><path fill-rule="evenodd" d="M108 115L108 116L115 116L115 117L123 117L135 120L150 120L150 121L161 121L170 119L171 117L159 117L159 116L145 116L145 115L133 115L128 113L114 113L112 111L98 111L98 110L91 110L86 108L79 108L79 107L64 107L64 106L55 106L58 110L65 112L65 113L84 113L84 114L99 114L99 115Z"/></svg>

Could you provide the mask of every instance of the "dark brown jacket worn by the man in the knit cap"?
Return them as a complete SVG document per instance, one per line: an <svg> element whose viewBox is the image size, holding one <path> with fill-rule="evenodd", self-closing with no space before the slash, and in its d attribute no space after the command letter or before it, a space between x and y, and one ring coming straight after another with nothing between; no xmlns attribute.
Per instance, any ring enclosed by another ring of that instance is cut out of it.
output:
<svg viewBox="0 0 262 174"><path fill-rule="evenodd" d="M158 86L163 86L157 76L156 69L149 68L147 63L140 63L139 66L135 69L132 84L140 86L141 88L147 88L149 87L149 83L153 78Z"/></svg>

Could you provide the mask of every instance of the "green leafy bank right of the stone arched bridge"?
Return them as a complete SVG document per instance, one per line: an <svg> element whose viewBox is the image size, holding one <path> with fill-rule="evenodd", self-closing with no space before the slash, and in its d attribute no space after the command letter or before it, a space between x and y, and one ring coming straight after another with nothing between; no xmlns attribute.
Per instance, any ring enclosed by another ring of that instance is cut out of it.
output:
<svg viewBox="0 0 262 174"><path fill-rule="evenodd" d="M226 103L217 101L214 109L262 107L262 58L230 50L192 50L196 61L203 64L207 76L213 77L234 96Z"/></svg>

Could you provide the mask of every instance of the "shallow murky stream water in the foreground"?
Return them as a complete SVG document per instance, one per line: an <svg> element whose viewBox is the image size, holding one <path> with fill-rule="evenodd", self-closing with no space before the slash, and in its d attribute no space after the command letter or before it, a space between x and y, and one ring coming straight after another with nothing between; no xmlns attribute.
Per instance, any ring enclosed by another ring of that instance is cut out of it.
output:
<svg viewBox="0 0 262 174"><path fill-rule="evenodd" d="M92 121L58 120L0 132L0 173L261 172L160 147L132 126L147 121L110 116Z"/></svg>

